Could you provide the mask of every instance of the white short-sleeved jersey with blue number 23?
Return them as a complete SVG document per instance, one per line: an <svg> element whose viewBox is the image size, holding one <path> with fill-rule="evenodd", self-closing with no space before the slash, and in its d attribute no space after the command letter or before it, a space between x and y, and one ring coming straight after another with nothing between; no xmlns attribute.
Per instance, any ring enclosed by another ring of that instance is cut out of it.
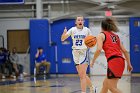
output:
<svg viewBox="0 0 140 93"><path fill-rule="evenodd" d="M77 27L72 27L66 34L72 37L72 49L87 49L84 43L84 38L88 35L91 35L89 28L83 27L83 29L78 29Z"/></svg>

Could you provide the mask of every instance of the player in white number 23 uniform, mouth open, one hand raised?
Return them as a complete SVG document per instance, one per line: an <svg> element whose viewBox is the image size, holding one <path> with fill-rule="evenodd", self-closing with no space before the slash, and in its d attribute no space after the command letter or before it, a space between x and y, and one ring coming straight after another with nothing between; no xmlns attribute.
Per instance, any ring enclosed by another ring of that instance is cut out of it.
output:
<svg viewBox="0 0 140 93"><path fill-rule="evenodd" d="M83 16L78 16L76 18L75 24L76 26L72 27L68 31L65 27L61 36L61 41L64 41L69 36L71 36L73 40L72 54L78 75L80 77L82 93L86 93L87 86L90 87L90 93L94 93L96 90L94 90L90 78L86 75L89 60L87 55L88 49L84 44L84 38L88 35L91 35L91 31L87 27L84 27Z"/></svg>

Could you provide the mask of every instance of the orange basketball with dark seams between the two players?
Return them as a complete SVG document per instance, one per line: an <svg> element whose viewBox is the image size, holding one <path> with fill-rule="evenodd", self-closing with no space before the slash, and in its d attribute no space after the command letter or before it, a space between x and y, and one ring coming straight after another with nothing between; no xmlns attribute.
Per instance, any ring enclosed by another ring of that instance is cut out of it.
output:
<svg viewBox="0 0 140 93"><path fill-rule="evenodd" d="M84 42L88 48L91 48L96 45L97 40L95 36L87 36L85 37Z"/></svg>

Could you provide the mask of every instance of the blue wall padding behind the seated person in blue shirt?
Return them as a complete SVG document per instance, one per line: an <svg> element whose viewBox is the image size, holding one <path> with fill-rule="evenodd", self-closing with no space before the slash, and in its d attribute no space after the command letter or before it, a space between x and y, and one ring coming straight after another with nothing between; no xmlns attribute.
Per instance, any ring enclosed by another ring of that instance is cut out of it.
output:
<svg viewBox="0 0 140 93"><path fill-rule="evenodd" d="M50 58L49 23L48 20L30 20L30 67L31 74L34 69L34 58L37 48L41 46Z"/></svg>

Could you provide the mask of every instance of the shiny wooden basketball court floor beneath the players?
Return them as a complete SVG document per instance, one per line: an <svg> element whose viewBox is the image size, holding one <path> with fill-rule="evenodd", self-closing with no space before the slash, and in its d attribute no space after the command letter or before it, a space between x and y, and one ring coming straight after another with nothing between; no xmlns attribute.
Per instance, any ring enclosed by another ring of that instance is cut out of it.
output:
<svg viewBox="0 0 140 93"><path fill-rule="evenodd" d="M91 80L101 90L105 76L91 76ZM123 93L140 93L140 75L123 76L118 87ZM0 93L81 93L77 76L60 75L45 78L43 76L24 77L23 79L0 80ZM89 89L87 88L87 93ZM108 92L110 93L110 92Z"/></svg>

